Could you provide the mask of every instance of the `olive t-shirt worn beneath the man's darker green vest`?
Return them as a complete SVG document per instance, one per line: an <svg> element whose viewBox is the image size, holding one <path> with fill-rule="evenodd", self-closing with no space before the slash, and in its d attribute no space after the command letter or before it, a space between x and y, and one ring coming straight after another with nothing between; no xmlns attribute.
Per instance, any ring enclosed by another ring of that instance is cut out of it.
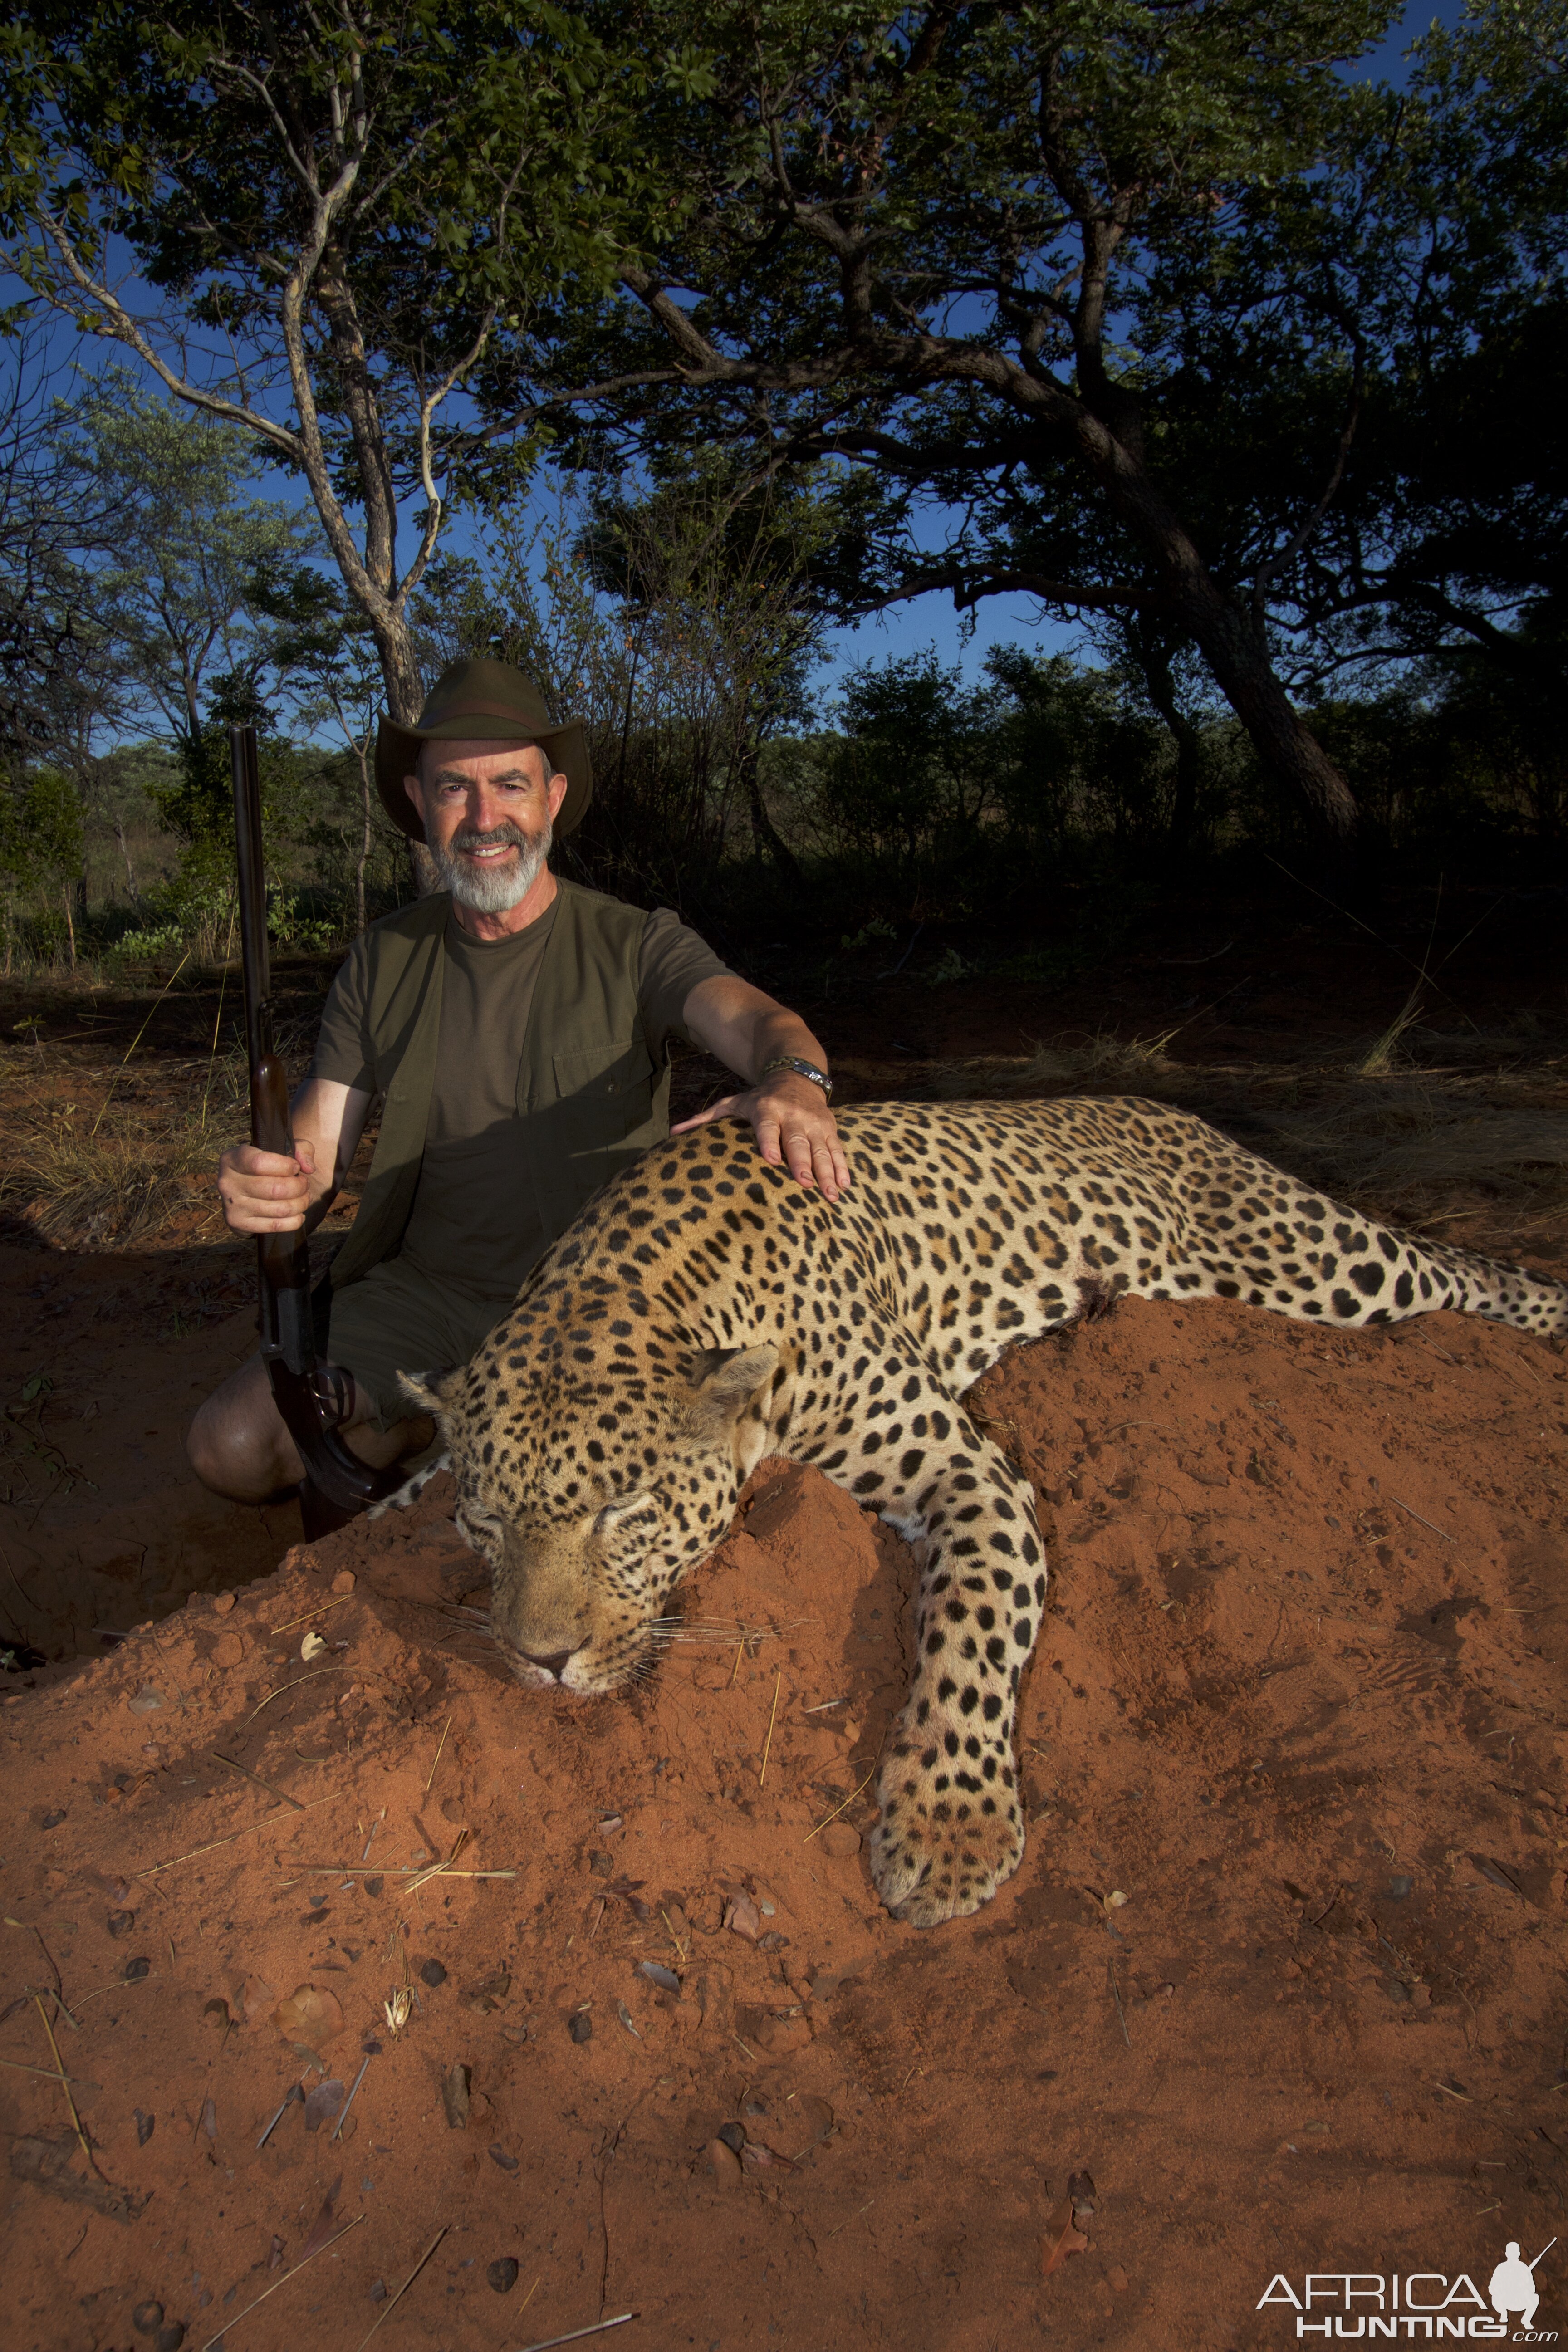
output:
<svg viewBox="0 0 1568 2352"><path fill-rule="evenodd" d="M402 1263L501 1305L512 1301L552 1240L541 1232L531 1207L517 1070L557 903L510 938L473 938L449 915L442 938L435 1089ZM637 1004L656 1061L670 1037L686 1037L682 1007L691 990L726 974L729 964L670 908L649 915L637 960ZM374 1094L364 988L367 957L353 948L327 995L310 1077Z"/></svg>

